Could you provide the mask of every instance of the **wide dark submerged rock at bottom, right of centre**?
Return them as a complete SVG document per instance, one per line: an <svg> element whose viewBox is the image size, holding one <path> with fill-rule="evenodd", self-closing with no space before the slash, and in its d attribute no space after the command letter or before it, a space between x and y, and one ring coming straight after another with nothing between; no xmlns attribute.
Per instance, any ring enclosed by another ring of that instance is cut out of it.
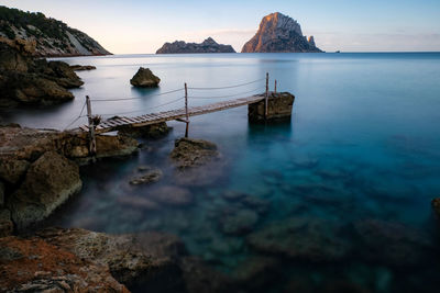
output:
<svg viewBox="0 0 440 293"><path fill-rule="evenodd" d="M337 261L351 249L349 241L341 237L342 230L332 221L293 217L266 225L251 234L248 243L266 253L315 262Z"/></svg>

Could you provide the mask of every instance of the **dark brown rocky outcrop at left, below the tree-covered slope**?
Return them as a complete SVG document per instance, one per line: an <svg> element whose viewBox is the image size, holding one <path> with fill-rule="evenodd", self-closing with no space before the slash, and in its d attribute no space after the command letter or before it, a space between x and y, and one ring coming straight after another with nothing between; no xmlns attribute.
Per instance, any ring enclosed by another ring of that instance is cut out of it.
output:
<svg viewBox="0 0 440 293"><path fill-rule="evenodd" d="M0 42L0 108L70 101L75 97L68 89L82 86L69 65L37 59L34 50L22 40Z"/></svg>

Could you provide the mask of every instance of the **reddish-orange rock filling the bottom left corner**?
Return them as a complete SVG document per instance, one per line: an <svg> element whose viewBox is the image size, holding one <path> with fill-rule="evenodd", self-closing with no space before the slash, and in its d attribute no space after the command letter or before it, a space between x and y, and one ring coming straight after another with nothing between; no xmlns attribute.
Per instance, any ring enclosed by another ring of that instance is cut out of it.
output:
<svg viewBox="0 0 440 293"><path fill-rule="evenodd" d="M1 292L121 292L107 266L38 238L0 238Z"/></svg>

